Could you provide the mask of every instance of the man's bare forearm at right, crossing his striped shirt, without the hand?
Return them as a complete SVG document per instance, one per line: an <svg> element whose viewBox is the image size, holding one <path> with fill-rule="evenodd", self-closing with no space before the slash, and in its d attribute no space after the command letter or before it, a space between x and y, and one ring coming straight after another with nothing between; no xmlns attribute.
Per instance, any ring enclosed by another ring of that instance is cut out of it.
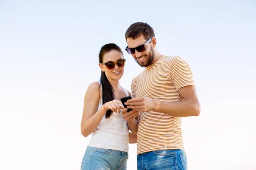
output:
<svg viewBox="0 0 256 170"><path fill-rule="evenodd" d="M187 99L183 102L161 102L154 100L154 111L171 116L188 117L200 114L200 104L197 100Z"/></svg>

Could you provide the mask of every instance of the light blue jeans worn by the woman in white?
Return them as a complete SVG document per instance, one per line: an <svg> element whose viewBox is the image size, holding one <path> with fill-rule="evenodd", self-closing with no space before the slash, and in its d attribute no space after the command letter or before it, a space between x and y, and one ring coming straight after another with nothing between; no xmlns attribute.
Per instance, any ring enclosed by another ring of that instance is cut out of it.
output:
<svg viewBox="0 0 256 170"><path fill-rule="evenodd" d="M126 170L127 159L127 152L88 146L81 170Z"/></svg>

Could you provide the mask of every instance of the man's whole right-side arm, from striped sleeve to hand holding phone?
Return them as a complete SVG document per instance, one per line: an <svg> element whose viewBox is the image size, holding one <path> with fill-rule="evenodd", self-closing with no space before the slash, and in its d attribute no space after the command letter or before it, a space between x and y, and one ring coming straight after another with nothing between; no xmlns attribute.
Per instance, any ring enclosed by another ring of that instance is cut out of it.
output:
<svg viewBox="0 0 256 170"><path fill-rule="evenodd" d="M170 64L169 79L175 85L182 102L161 102L148 97L129 99L125 105L135 111L157 111L172 116L187 117L200 114L200 103L196 94L192 72L189 65L180 57ZM133 106L131 106L133 105Z"/></svg>

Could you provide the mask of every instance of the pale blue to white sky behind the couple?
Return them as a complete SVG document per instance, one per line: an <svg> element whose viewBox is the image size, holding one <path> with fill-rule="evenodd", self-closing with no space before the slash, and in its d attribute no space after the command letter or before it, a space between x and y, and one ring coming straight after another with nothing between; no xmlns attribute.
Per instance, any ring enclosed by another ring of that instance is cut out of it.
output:
<svg viewBox="0 0 256 170"><path fill-rule="evenodd" d="M122 48L120 84L130 90L143 68L125 51L125 31L146 22L158 51L192 68L201 115L183 119L189 170L253 170L255 9L253 0L0 0L0 169L79 169L90 139L80 134L83 98L99 79L99 50ZM133 170L136 145L129 154Z"/></svg>

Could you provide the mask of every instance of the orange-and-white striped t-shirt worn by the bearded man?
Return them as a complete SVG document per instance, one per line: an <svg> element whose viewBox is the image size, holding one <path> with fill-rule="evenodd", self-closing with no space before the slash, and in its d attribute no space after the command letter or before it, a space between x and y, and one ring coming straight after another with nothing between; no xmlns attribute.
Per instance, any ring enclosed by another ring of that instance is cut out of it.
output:
<svg viewBox="0 0 256 170"><path fill-rule="evenodd" d="M131 84L132 97L162 102L184 101L180 88L194 85L189 65L180 57L163 56L146 67ZM157 111L140 112L137 155L154 150L184 149L181 118Z"/></svg>

